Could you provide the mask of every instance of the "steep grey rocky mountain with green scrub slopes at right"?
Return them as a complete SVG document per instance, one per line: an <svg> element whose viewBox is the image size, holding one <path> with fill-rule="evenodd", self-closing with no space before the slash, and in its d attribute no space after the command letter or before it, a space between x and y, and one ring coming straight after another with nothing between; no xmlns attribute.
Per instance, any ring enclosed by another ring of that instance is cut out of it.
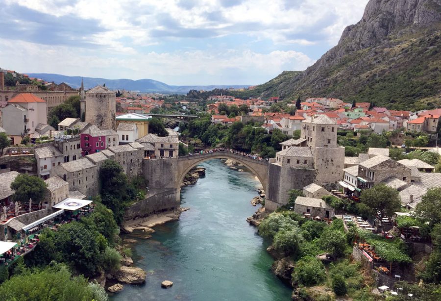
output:
<svg viewBox="0 0 441 301"><path fill-rule="evenodd" d="M262 96L336 97L393 109L441 106L441 0L370 0L337 46L303 72L258 86Z"/></svg>

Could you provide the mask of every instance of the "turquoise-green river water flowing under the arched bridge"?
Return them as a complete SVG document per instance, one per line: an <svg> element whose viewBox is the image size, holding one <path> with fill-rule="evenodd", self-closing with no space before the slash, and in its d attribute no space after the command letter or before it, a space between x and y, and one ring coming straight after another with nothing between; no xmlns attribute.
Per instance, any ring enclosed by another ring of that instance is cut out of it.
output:
<svg viewBox="0 0 441 301"><path fill-rule="evenodd" d="M292 289L270 271L268 242L246 222L256 211L250 200L260 183L221 160L202 166L206 176L181 190L181 206L191 209L133 245L135 265L147 270L146 284L125 285L111 300L290 300ZM163 280L173 286L162 289Z"/></svg>

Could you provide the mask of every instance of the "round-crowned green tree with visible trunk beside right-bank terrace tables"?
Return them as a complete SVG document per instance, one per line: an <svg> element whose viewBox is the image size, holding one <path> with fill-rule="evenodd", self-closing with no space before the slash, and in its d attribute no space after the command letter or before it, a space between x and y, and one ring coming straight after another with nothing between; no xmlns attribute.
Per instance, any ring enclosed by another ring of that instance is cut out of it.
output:
<svg viewBox="0 0 441 301"><path fill-rule="evenodd" d="M361 193L360 201L366 204L373 212L379 212L382 217L391 217L401 208L398 191L386 186L384 183L377 184ZM383 231L383 224L381 226Z"/></svg>

